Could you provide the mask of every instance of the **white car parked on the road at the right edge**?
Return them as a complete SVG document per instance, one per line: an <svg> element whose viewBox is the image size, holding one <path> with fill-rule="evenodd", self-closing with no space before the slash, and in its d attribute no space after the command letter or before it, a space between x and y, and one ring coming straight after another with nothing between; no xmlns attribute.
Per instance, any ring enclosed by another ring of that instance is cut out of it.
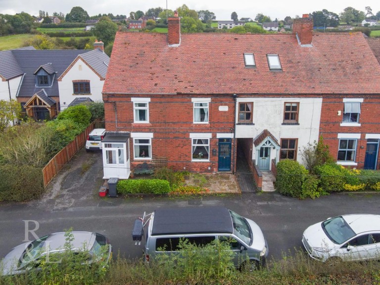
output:
<svg viewBox="0 0 380 285"><path fill-rule="evenodd" d="M380 259L380 215L329 218L307 228L302 243L312 258L323 262Z"/></svg>

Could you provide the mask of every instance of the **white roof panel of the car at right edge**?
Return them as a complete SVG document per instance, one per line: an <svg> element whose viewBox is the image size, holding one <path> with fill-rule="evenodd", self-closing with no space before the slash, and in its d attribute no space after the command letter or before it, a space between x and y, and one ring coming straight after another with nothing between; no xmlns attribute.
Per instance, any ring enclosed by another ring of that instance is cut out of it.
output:
<svg viewBox="0 0 380 285"><path fill-rule="evenodd" d="M342 217L356 234L380 231L380 215L352 214Z"/></svg>

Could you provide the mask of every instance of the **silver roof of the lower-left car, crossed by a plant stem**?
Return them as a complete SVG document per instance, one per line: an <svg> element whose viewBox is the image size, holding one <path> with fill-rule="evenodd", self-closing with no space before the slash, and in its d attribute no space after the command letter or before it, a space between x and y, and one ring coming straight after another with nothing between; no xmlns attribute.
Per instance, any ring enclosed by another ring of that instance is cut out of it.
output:
<svg viewBox="0 0 380 285"><path fill-rule="evenodd" d="M66 242L66 233L54 233L47 237L46 245L49 251L63 250ZM73 240L71 241L72 249L84 248L91 249L95 242L95 233L91 232L71 232ZM94 236L94 238L93 238Z"/></svg>

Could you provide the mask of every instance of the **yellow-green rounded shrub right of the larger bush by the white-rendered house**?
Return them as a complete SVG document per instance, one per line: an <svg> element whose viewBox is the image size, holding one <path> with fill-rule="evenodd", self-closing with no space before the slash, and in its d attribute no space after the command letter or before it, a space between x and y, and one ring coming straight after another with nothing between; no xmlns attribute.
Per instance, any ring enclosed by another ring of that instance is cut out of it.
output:
<svg viewBox="0 0 380 285"><path fill-rule="evenodd" d="M337 164L324 164L314 168L319 176L320 187L327 192L341 191L344 189L345 176L342 167Z"/></svg>

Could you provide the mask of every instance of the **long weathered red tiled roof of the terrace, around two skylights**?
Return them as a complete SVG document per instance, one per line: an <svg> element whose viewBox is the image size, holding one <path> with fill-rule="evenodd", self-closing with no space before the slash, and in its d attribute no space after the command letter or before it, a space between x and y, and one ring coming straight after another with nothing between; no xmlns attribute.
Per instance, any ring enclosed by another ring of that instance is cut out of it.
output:
<svg viewBox="0 0 380 285"><path fill-rule="evenodd" d="M104 93L360 94L380 92L380 65L361 33L317 33L313 47L292 34L166 34L117 32ZM256 68L245 68L253 52ZM279 54L282 72L266 54ZM371 74L371 76L368 76Z"/></svg>

